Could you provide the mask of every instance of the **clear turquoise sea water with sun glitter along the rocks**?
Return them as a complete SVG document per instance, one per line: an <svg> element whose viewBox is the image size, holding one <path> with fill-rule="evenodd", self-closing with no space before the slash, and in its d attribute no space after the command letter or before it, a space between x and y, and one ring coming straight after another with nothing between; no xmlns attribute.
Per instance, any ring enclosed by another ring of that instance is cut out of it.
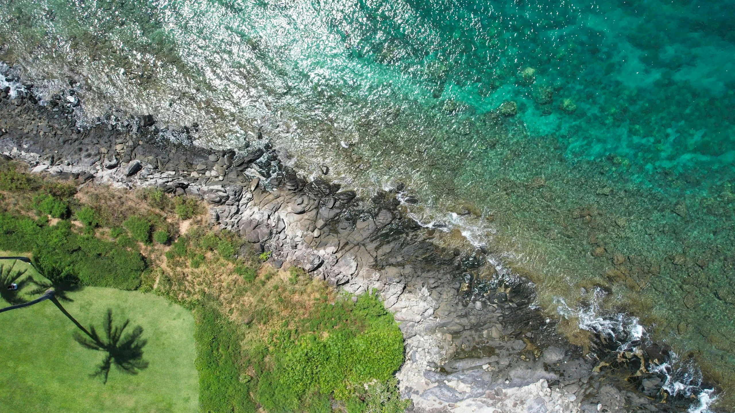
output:
<svg viewBox="0 0 735 413"><path fill-rule="evenodd" d="M214 146L262 131L365 195L406 182L418 220L505 256L549 311L602 286L600 311L733 394L731 1L3 4L3 59L37 90Z"/></svg>

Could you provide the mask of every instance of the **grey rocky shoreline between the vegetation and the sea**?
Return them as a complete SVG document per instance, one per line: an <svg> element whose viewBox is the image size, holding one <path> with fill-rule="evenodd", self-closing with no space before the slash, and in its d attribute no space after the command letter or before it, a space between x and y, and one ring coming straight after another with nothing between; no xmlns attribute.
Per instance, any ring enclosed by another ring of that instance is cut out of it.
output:
<svg viewBox="0 0 735 413"><path fill-rule="evenodd" d="M298 176L261 134L212 151L150 115L79 125L79 104L73 91L39 102L32 86L6 86L0 153L79 184L204 198L213 225L271 251L275 267L298 265L348 292L378 290L404 332L397 376L414 412L678 412L690 402L659 403L652 373L622 386L619 373L600 371L603 356L559 336L532 305L533 287L498 257L432 243L435 230L406 217L415 198L401 184L361 199L329 181L328 165L323 176Z"/></svg>

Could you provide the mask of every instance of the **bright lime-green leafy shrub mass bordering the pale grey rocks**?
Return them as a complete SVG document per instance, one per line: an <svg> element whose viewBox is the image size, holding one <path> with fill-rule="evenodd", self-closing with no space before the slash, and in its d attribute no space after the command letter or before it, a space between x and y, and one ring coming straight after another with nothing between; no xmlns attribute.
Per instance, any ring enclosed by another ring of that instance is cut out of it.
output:
<svg viewBox="0 0 735 413"><path fill-rule="evenodd" d="M252 314L261 324L269 316L266 306ZM376 295L359 295L356 302L346 297L334 304L322 301L309 317L293 320L291 327L268 342L273 367L262 367L266 373L259 378L255 393L268 412L293 411L294 406L315 403L315 392L349 403L354 412L392 413L405 408L390 381L404 360L403 335ZM366 399L365 406L356 406L356 392L373 380L385 384L375 390L385 400L370 404ZM315 411L319 406L313 405Z"/></svg>

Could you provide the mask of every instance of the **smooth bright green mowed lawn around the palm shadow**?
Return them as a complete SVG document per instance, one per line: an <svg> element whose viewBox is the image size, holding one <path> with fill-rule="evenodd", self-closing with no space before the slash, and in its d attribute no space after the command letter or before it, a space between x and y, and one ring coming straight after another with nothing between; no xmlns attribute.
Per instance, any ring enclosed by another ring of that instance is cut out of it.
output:
<svg viewBox="0 0 735 413"><path fill-rule="evenodd" d="M126 332L142 326L148 368L132 376L113 366L103 384L90 373L105 353L74 341L76 326L51 301L0 313L0 412L198 412L190 311L135 291L85 287L67 295L65 309L103 337L108 308L113 325L130 320Z"/></svg>

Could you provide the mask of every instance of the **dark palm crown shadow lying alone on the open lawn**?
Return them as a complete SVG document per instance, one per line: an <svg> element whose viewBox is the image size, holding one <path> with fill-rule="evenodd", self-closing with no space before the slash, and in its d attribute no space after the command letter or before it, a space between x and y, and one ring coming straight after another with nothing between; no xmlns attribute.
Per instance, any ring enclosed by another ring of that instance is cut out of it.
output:
<svg viewBox="0 0 735 413"><path fill-rule="evenodd" d="M107 315L102 321L104 338L99 336L92 325L90 325L88 336L74 331L74 340L82 347L106 353L104 360L97 366L97 371L90 375L91 377L102 376L103 383L107 384L107 376L110 375L110 368L113 364L118 370L128 374L137 374L148 367L148 362L143 360L143 347L148 340L140 338L143 334L143 327L136 326L132 332L123 335L129 323L130 320L125 320L121 325L113 326L112 309L107 309Z"/></svg>

